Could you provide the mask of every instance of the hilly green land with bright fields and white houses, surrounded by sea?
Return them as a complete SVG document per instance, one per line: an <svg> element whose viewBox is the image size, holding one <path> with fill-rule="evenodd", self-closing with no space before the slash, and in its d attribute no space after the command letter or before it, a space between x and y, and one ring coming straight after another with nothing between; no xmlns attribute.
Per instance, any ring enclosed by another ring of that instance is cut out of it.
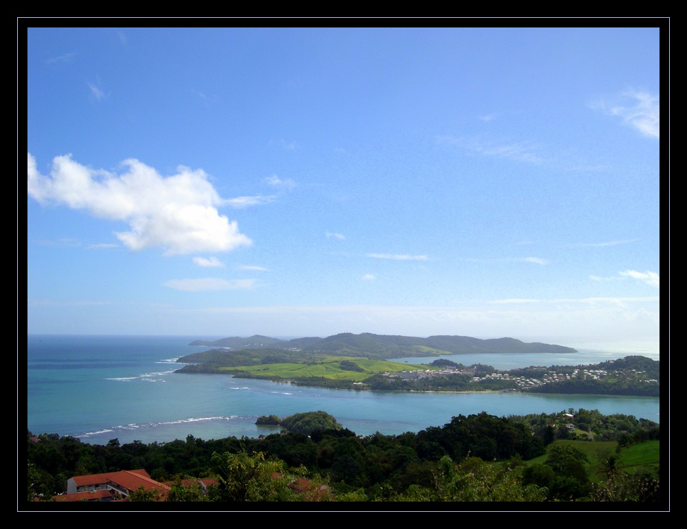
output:
<svg viewBox="0 0 687 529"><path fill-rule="evenodd" d="M462 365L443 355L469 353L567 354L576 350L551 344L526 344L513 338L477 339L464 336L354 335L280 340L255 335L193 341L190 345L220 347L177 359L186 365L178 373L229 374L293 385L341 390L418 392L546 392L659 396L660 363L626 357L594 366L530 366L496 370L480 363ZM431 357L429 364L393 361Z"/></svg>

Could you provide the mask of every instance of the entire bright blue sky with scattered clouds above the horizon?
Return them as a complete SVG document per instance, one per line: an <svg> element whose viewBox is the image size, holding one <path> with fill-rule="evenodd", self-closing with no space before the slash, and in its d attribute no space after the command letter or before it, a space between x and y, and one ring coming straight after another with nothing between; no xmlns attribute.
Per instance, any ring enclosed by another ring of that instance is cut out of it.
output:
<svg viewBox="0 0 687 529"><path fill-rule="evenodd" d="M657 344L659 64L657 28L30 28L27 330Z"/></svg>

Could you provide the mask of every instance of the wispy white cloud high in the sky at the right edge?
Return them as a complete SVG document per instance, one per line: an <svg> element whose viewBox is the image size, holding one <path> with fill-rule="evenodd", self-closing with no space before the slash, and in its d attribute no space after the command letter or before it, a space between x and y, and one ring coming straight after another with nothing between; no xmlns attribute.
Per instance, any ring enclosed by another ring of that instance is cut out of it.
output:
<svg viewBox="0 0 687 529"><path fill-rule="evenodd" d="M644 136L660 137L661 107L658 95L628 90L607 100L590 104L592 109L620 117L622 122Z"/></svg>

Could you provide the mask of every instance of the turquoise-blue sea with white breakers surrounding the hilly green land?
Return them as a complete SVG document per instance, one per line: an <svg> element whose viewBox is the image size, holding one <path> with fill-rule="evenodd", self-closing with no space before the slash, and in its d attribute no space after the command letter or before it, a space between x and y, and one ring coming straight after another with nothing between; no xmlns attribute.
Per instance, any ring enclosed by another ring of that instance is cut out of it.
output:
<svg viewBox="0 0 687 529"><path fill-rule="evenodd" d="M394 393L324 390L219 374L177 374L174 361L207 348L188 344L196 336L27 337L27 428L34 434L75 436L106 444L140 440L168 442L257 437L278 428L258 427L256 418L323 410L359 435L417 432L443 426L453 416L495 416L598 409L659 421L660 399L622 396L502 393ZM202 337L203 339L215 339ZM221 337L216 337L221 338ZM19 351L21 353L21 350ZM497 369L529 365L598 363L629 354L653 359L658 352L579 350L574 354L465 354L465 365ZM402 359L427 363L436 359ZM19 361L21 365L21 361ZM19 374L21 387L21 374ZM18 394L21 431L21 389Z"/></svg>

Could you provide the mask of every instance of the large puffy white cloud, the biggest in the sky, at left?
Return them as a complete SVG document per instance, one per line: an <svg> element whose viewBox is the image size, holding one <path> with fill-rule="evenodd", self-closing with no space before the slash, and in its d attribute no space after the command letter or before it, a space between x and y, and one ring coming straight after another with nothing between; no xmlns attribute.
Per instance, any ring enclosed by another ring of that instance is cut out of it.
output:
<svg viewBox="0 0 687 529"><path fill-rule="evenodd" d="M236 221L219 214L216 206L231 201L218 196L203 170L179 166L177 175L162 177L136 159L123 166L124 174L117 176L82 166L71 155L58 156L45 177L27 153L28 194L39 203L128 223L131 231L115 235L131 250L163 247L166 255L180 255L251 245Z"/></svg>

